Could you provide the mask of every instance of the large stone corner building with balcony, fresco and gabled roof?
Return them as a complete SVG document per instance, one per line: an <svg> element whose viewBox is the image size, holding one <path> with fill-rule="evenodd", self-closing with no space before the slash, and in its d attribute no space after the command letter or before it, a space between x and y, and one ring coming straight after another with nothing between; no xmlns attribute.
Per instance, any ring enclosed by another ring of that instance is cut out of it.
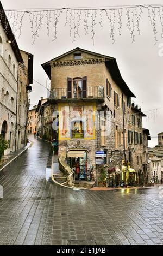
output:
<svg viewBox="0 0 163 256"><path fill-rule="evenodd" d="M145 115L131 106L135 96L116 59L76 48L42 67L51 79L48 102L55 112L53 126L59 123L59 158L75 178L97 181L104 167L115 184L138 184ZM130 168L122 169L129 160Z"/></svg>

